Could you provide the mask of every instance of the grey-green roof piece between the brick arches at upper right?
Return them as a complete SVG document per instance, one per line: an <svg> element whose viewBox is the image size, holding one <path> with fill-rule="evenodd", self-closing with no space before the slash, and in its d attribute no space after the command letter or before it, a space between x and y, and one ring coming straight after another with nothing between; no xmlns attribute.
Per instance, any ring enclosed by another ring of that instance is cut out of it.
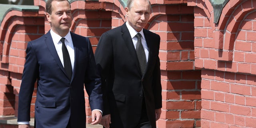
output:
<svg viewBox="0 0 256 128"><path fill-rule="evenodd" d="M221 12L229 0L209 0L209 1L213 7L214 23L217 24L220 19Z"/></svg>

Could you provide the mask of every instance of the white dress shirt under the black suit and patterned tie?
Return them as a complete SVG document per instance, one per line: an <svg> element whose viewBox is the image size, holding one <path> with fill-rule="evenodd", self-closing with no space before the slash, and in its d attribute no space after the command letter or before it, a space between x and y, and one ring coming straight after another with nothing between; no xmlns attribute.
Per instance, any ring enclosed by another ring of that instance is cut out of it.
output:
<svg viewBox="0 0 256 128"><path fill-rule="evenodd" d="M126 26L127 26L128 30L130 32L134 48L136 49L136 44L137 44L137 40L138 40L137 37L136 37L136 34L138 32L136 30L134 30L134 28L132 28L132 26L130 26L130 24L128 24L128 22L126 22ZM142 46L143 46L145 54L146 54L146 60L148 62L148 45L147 45L147 42L146 42L146 39L145 39L145 36L144 36L144 33L143 33L143 29L140 30L139 33L141 34L141 43L142 43Z"/></svg>

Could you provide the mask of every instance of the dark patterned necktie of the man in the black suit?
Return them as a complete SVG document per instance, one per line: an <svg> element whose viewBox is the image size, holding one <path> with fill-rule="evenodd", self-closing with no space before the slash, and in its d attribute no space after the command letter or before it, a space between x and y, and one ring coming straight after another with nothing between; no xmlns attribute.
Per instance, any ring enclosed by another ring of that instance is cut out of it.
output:
<svg viewBox="0 0 256 128"><path fill-rule="evenodd" d="M143 76L144 71L146 69L146 65L147 65L146 54L141 43L141 34L140 33L136 34L136 37L138 38L138 41L136 44L136 54L140 64L140 72L141 72L141 75Z"/></svg>

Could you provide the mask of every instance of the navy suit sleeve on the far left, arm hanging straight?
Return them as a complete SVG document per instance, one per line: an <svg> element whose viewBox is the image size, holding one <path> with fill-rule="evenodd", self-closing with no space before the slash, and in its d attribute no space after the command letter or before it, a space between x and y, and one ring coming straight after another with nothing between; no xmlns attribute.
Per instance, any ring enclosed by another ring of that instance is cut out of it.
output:
<svg viewBox="0 0 256 128"><path fill-rule="evenodd" d="M38 77L39 66L31 42L28 42L26 54L26 62L24 64L19 92L18 122L30 121L30 104L36 78Z"/></svg>

